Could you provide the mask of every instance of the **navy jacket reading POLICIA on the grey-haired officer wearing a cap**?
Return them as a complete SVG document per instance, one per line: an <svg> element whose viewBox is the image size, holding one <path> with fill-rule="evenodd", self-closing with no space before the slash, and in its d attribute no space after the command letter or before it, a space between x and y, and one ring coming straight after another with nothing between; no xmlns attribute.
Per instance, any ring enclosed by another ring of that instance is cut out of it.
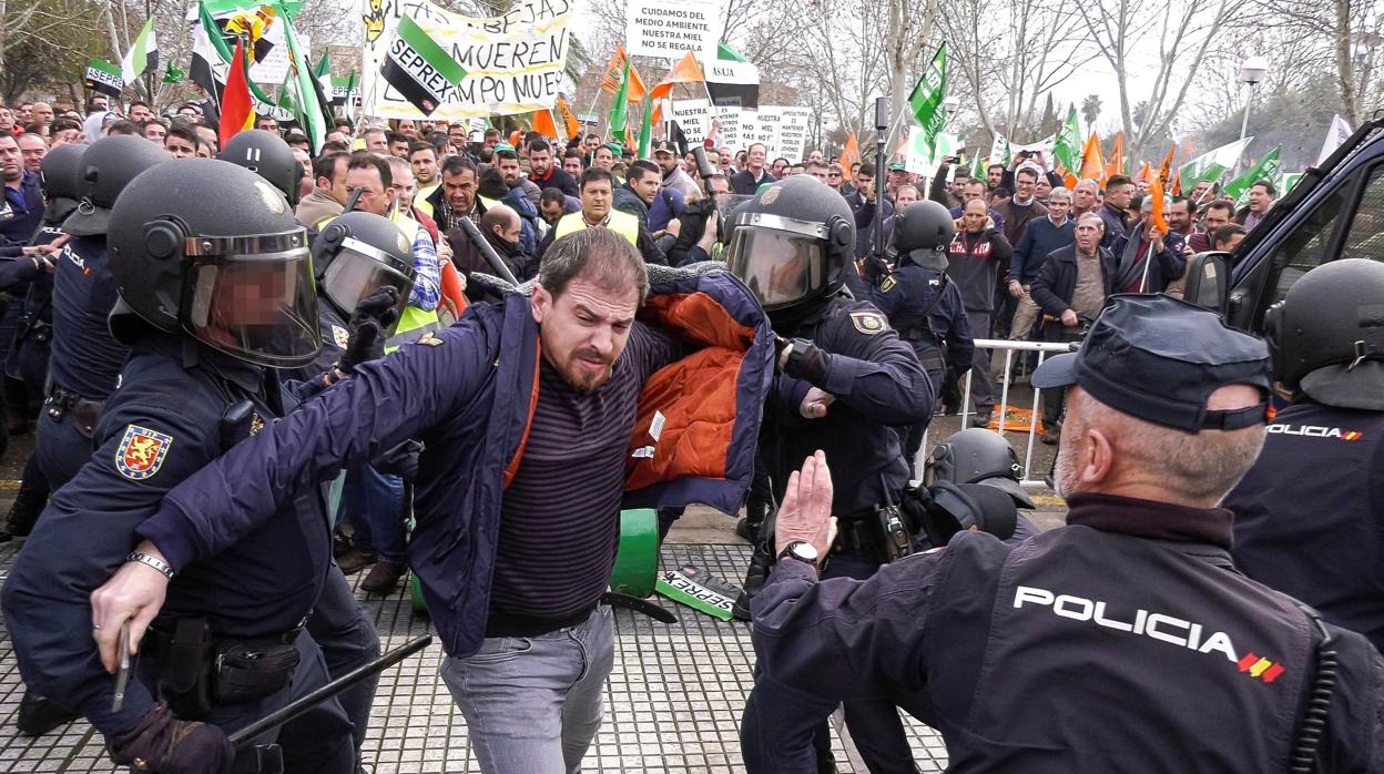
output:
<svg viewBox="0 0 1384 774"><path fill-rule="evenodd" d="M1068 526L1019 546L963 532L865 582L779 562L752 611L761 680L796 708L781 712L810 728L889 696L941 731L948 771L1284 771L1313 626L1235 568L1230 512L1070 505ZM1380 771L1384 660L1326 626L1340 665L1320 770ZM776 738L808 744L793 731Z"/></svg>

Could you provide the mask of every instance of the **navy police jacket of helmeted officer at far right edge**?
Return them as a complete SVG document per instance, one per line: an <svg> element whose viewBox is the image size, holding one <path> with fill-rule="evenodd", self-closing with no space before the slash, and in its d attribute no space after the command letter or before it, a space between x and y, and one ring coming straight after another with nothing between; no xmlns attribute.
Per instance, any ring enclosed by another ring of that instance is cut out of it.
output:
<svg viewBox="0 0 1384 774"><path fill-rule="evenodd" d="M1246 575L1384 648L1384 411L1295 400L1223 505Z"/></svg>

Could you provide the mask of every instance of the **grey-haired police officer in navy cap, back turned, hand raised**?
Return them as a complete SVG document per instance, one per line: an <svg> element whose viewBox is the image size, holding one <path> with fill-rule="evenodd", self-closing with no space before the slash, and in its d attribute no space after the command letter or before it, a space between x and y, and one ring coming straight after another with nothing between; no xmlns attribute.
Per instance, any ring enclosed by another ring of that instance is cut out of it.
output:
<svg viewBox="0 0 1384 774"><path fill-rule="evenodd" d="M1230 561L1217 504L1264 443L1264 342L1121 295L1034 385L1068 392L1071 510L1019 546L963 532L869 580L819 582L825 457L790 478L781 561L752 605L746 768L812 771L811 724L886 695L941 731L958 771L1377 770L1384 659Z"/></svg>

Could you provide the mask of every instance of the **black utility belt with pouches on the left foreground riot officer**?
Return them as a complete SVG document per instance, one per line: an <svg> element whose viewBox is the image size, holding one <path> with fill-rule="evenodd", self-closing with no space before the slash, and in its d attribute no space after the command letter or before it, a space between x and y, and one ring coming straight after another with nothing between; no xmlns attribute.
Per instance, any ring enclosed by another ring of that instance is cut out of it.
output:
<svg viewBox="0 0 1384 774"><path fill-rule="evenodd" d="M145 641L162 665L159 696L180 720L205 720L213 706L271 696L298 670L300 631L230 638L215 637L205 618L156 620Z"/></svg>

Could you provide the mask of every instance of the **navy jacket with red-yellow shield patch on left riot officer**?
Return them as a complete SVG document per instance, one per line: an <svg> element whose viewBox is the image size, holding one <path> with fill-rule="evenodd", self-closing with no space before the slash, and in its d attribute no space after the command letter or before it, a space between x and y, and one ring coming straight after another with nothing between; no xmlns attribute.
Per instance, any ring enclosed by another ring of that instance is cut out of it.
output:
<svg viewBox="0 0 1384 774"><path fill-rule="evenodd" d="M97 424L95 453L48 501L0 598L25 683L107 735L133 728L156 696L131 680L111 712L115 678L91 640L91 591L125 564L170 489L296 402L263 368L206 350L188 366L185 356L176 336L134 345ZM242 400L253 403L252 417L223 431L226 410ZM245 494L227 483L227 497ZM331 565L331 528L317 487L285 496L275 516L179 565L161 618L206 616L215 636L230 638L298 627Z"/></svg>

